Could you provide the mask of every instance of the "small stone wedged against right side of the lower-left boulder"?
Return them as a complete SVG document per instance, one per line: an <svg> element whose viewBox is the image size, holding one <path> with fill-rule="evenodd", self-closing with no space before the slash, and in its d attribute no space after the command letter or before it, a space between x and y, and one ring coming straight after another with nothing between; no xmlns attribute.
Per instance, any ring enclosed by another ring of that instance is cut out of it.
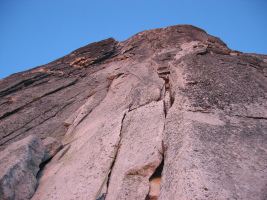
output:
<svg viewBox="0 0 267 200"><path fill-rule="evenodd" d="M43 157L43 162L47 161L48 159L52 158L56 153L63 148L62 142L56 140L52 137L47 137L43 140L45 145L45 155Z"/></svg>

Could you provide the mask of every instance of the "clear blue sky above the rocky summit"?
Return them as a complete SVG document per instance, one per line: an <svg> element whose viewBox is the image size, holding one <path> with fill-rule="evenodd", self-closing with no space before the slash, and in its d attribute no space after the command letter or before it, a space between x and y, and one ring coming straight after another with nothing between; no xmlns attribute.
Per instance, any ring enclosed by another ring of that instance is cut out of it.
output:
<svg viewBox="0 0 267 200"><path fill-rule="evenodd" d="M267 0L0 0L0 79L92 42L178 24L267 54Z"/></svg>

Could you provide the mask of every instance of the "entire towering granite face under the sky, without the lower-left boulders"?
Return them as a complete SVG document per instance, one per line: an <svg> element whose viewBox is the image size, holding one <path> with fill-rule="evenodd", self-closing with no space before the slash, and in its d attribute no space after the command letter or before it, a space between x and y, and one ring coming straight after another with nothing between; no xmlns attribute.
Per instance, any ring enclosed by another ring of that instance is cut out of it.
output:
<svg viewBox="0 0 267 200"><path fill-rule="evenodd" d="M32 200L267 199L266 76L189 25L109 38L0 81L0 149L63 142Z"/></svg>

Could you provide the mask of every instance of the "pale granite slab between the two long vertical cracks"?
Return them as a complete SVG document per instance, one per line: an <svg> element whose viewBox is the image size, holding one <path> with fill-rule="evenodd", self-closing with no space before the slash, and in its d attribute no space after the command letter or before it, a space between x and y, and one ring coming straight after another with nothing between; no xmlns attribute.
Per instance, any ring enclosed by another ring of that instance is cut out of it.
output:
<svg viewBox="0 0 267 200"><path fill-rule="evenodd" d="M149 178L162 162L164 120L162 100L127 113L110 173L107 200L146 198Z"/></svg>

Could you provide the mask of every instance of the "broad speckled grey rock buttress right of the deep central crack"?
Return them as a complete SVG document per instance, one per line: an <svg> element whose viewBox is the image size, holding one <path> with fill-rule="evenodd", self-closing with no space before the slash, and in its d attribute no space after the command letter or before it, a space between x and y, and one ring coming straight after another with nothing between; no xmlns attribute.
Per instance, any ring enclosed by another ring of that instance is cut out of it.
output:
<svg viewBox="0 0 267 200"><path fill-rule="evenodd" d="M265 199L262 75L231 57L180 55L171 61L175 101L165 123L159 199Z"/></svg>

